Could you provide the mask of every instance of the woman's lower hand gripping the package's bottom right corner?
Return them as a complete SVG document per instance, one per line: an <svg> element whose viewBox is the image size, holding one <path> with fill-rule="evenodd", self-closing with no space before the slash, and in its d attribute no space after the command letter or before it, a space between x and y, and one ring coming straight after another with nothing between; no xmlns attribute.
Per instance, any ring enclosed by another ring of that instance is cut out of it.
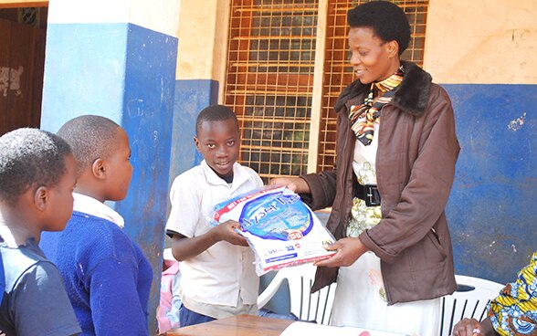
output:
<svg viewBox="0 0 537 336"><path fill-rule="evenodd" d="M342 238L333 244L326 247L327 250L338 252L330 259L325 259L316 262L314 265L325 268L335 268L339 266L351 266L354 261L368 251L367 247L363 245L360 238Z"/></svg>

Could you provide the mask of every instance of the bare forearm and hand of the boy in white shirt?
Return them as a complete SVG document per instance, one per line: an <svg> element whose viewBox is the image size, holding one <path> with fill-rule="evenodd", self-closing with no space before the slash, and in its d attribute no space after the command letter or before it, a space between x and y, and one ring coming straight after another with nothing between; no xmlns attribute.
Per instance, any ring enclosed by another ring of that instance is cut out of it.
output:
<svg viewBox="0 0 537 336"><path fill-rule="evenodd" d="M228 220L211 228L205 234L192 238L174 233L174 240L172 242L174 258L184 261L195 257L219 241L226 241L229 244L247 247L247 240L237 234L235 231L236 228L240 229L240 224L236 221Z"/></svg>

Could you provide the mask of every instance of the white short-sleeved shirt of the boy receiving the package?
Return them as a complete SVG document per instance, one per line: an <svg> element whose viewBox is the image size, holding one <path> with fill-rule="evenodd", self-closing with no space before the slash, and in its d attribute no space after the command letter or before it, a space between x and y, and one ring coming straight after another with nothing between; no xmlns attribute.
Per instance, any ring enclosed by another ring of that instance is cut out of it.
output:
<svg viewBox="0 0 537 336"><path fill-rule="evenodd" d="M227 184L205 161L177 176L172 184L172 211L166 230L187 237L200 236L213 226L208 223L214 205L263 186L258 173L235 163L233 183ZM237 303L255 305L258 276L249 247L237 247L221 241L196 257L181 262L181 297L187 308ZM240 294L240 297L239 297ZM237 299L239 301L237 302ZM214 315L211 311L198 311ZM215 317L215 316L213 316ZM220 318L223 316L217 316Z"/></svg>

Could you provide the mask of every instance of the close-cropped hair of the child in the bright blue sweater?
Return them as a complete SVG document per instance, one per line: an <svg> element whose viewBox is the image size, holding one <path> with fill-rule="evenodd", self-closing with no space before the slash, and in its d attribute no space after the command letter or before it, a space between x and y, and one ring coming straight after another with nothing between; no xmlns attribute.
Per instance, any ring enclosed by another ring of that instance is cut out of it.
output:
<svg viewBox="0 0 537 336"><path fill-rule="evenodd" d="M66 122L58 135L71 146L77 160L77 173L84 172L95 160L107 158L116 147L120 125L98 115L83 115Z"/></svg>

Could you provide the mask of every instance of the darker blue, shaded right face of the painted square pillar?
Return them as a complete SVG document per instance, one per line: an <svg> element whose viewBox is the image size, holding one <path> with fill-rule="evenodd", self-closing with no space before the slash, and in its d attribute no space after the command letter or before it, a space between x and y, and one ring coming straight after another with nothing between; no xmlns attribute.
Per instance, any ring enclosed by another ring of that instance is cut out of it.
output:
<svg viewBox="0 0 537 336"><path fill-rule="evenodd" d="M132 137L134 173L129 195L116 210L153 266L153 317L163 265L177 39L130 24L126 56L121 126Z"/></svg>

